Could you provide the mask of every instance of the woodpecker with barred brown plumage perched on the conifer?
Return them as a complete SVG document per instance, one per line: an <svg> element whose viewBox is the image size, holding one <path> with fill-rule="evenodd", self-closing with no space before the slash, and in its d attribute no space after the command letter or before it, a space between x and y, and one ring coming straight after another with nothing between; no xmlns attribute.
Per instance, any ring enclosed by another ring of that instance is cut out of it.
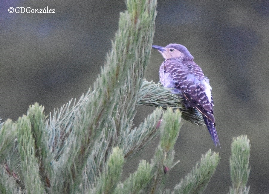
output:
<svg viewBox="0 0 269 194"><path fill-rule="evenodd" d="M203 70L194 62L188 49L171 43L166 47L152 45L163 56L159 77L164 87L172 88L172 92L184 99L186 108L195 108L203 116L204 122L216 147L220 147L215 127L214 102L212 87Z"/></svg>

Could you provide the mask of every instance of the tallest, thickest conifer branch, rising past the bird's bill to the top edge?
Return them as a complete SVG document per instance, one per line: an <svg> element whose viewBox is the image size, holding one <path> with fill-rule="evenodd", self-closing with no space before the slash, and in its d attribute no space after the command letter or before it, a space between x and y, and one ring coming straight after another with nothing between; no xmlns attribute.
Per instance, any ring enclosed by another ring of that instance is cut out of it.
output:
<svg viewBox="0 0 269 194"><path fill-rule="evenodd" d="M56 166L62 173L57 177L69 177L63 184L55 180L56 188L65 188L68 192L78 188L92 144L103 130L115 130L120 135L132 126L143 71L151 51L156 1L129 0L126 5L127 11L120 14L112 50L93 91L88 94L90 98L86 99L81 112L73 114L74 121L68 122L70 127L63 130L65 143L54 146L63 150ZM71 149L64 149L65 146Z"/></svg>

